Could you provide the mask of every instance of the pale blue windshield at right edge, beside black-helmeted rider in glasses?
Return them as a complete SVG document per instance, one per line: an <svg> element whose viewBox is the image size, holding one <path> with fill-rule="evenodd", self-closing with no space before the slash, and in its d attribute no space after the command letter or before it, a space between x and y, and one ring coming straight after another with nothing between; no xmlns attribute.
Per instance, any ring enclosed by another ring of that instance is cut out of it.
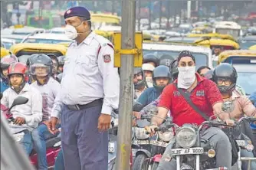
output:
<svg viewBox="0 0 256 170"><path fill-rule="evenodd" d="M256 87L256 73L238 72L237 84L243 87L245 93L249 96Z"/></svg>

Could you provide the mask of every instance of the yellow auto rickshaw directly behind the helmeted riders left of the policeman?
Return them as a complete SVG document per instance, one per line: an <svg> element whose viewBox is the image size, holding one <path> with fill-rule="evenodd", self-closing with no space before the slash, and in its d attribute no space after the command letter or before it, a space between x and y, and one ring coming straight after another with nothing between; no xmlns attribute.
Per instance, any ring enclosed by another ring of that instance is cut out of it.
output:
<svg viewBox="0 0 256 170"><path fill-rule="evenodd" d="M10 51L26 64L31 54L54 54L58 57L66 54L67 47L63 44L21 43L11 46Z"/></svg>

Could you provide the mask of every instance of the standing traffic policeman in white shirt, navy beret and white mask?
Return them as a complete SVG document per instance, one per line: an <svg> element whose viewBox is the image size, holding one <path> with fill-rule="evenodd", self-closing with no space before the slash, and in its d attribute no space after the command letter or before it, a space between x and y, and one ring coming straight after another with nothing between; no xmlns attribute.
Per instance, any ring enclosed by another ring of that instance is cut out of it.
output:
<svg viewBox="0 0 256 170"><path fill-rule="evenodd" d="M113 45L91 30L90 13L74 7L64 13L67 48L61 93L54 101L49 130L61 115L65 169L107 170L110 114L119 104L120 78Z"/></svg>

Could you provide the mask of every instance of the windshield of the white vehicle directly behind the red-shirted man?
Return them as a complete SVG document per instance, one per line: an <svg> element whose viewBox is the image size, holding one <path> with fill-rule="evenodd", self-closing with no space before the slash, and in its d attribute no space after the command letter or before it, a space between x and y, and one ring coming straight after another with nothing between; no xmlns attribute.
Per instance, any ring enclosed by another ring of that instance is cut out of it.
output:
<svg viewBox="0 0 256 170"><path fill-rule="evenodd" d="M145 54L156 54L158 57L161 57L163 54L168 54L172 56L170 58L171 60L174 60L178 57L180 51L152 51L152 50L143 50L143 55ZM202 54L202 53L193 53L195 57L195 67L198 69L201 66L208 66L208 55L207 54ZM170 61L172 62L172 61Z"/></svg>

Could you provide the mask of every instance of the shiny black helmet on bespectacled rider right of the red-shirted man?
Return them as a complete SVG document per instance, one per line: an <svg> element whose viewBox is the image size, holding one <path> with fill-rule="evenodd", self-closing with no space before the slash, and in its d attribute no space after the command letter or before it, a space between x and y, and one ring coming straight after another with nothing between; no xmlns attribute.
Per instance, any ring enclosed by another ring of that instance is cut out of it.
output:
<svg viewBox="0 0 256 170"><path fill-rule="evenodd" d="M219 64L217 67L215 67L212 75L212 80L217 84L217 86L218 79L231 80L231 85L229 87L218 86L218 90L220 90L221 93L231 93L235 89L237 78L238 74L235 67L228 63Z"/></svg>

